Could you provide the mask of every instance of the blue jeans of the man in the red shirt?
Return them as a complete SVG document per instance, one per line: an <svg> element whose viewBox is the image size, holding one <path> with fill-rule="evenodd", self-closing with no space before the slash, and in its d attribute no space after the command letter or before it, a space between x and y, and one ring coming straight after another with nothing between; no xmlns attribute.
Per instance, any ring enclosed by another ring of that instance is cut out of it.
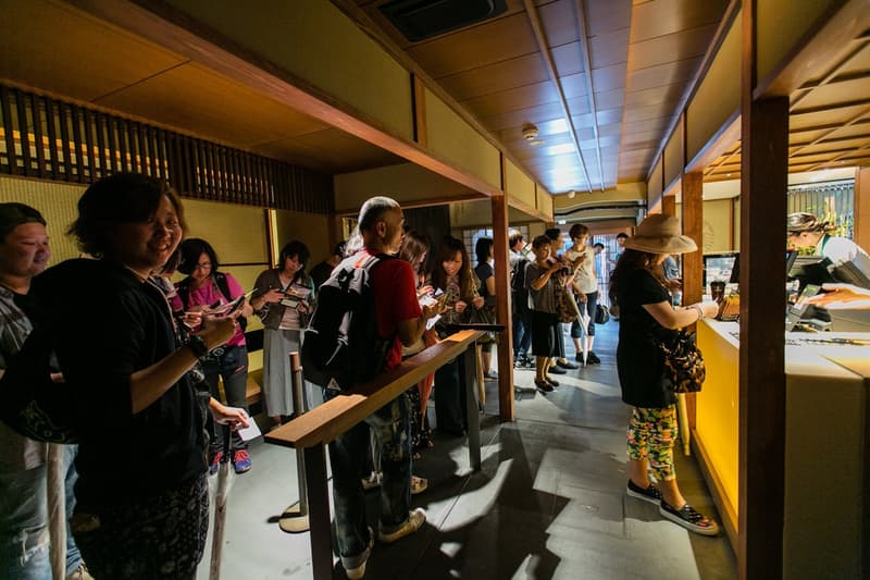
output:
<svg viewBox="0 0 870 580"><path fill-rule="evenodd" d="M325 400L335 396L340 395L335 391L324 391ZM401 394L330 443L335 533L338 555L346 569L356 568L368 556L369 529L361 479L369 455L370 429L381 447L381 470L384 473L380 491L381 528L389 532L408 519L411 507L409 418L408 397Z"/></svg>

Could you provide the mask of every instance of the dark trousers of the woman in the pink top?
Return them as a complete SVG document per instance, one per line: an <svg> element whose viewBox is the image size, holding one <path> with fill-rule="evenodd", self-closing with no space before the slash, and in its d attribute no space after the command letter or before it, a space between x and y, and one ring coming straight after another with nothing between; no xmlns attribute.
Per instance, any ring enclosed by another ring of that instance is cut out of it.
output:
<svg viewBox="0 0 870 580"><path fill-rule="evenodd" d="M223 351L220 355L202 361L202 370L206 373L206 382L209 383L209 388L211 388L211 396L221 400L221 393L217 390L217 377L221 377L224 380L226 404L231 407L248 410L248 349L246 347L223 347ZM224 430L222 425L214 423L211 414L206 417L206 429L211 439L209 453L213 456L224 449ZM233 433L229 453L247 448L248 444L241 441L238 433Z"/></svg>

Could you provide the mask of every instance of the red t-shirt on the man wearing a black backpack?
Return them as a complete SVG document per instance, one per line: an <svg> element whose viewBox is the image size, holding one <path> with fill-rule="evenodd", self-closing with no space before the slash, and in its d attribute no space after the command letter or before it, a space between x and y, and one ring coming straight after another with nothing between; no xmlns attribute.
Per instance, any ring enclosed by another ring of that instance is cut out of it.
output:
<svg viewBox="0 0 870 580"><path fill-rule="evenodd" d="M363 252L371 255L368 250ZM399 323L420 318L423 311L417 301L417 281L410 263L401 259L384 260L371 273L377 334L382 337L395 336L384 367L389 370L401 362L401 341L397 334Z"/></svg>

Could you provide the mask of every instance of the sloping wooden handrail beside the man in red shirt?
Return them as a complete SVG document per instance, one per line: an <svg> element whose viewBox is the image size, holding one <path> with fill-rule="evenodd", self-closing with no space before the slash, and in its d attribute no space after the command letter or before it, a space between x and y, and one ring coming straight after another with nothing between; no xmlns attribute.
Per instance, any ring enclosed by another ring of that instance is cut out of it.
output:
<svg viewBox="0 0 870 580"><path fill-rule="evenodd" d="M484 333L460 331L374 380L319 405L265 435L268 443L297 449L326 444L399 396L445 362L458 357Z"/></svg>

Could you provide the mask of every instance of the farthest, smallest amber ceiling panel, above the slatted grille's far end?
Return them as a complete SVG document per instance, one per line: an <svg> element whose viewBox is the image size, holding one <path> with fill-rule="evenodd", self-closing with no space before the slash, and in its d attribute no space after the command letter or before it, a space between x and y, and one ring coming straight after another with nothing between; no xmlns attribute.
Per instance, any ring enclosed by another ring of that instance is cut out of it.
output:
<svg viewBox="0 0 870 580"><path fill-rule="evenodd" d="M405 162L400 157L337 128L259 144L252 151L324 173L347 173Z"/></svg>

